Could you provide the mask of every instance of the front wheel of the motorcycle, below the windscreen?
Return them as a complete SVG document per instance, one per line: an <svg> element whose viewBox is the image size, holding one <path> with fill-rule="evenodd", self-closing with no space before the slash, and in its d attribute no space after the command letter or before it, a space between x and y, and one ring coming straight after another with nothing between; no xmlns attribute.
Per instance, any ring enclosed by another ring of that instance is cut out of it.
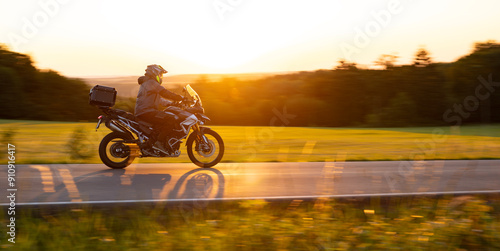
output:
<svg viewBox="0 0 500 251"><path fill-rule="evenodd" d="M224 155L224 142L220 135L211 129L204 130L203 134L191 133L186 145L189 159L199 167L213 167Z"/></svg>

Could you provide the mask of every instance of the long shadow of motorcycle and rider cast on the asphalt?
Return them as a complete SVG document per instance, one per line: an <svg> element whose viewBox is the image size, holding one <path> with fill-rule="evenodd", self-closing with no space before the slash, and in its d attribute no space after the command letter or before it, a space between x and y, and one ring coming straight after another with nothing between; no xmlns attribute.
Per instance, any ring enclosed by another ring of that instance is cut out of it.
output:
<svg viewBox="0 0 500 251"><path fill-rule="evenodd" d="M54 170L57 172L57 170ZM182 176L135 174L108 169L54 182L55 192L41 192L32 202L151 201L223 198L224 175L217 169L197 168Z"/></svg>

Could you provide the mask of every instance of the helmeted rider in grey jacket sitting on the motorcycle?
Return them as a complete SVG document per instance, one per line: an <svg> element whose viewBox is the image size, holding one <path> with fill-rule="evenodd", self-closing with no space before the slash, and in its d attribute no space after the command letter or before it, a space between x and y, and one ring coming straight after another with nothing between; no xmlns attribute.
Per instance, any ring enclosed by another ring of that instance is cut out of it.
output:
<svg viewBox="0 0 500 251"><path fill-rule="evenodd" d="M144 76L138 79L140 88L135 103L135 116L153 124L155 130L159 131L155 137L157 139L155 146L162 151L169 152L170 147L166 143L167 135L173 131L176 124L180 124L181 121L185 122L186 116L160 110L161 106L166 107L173 103L169 100L182 101L184 99L183 96L161 86L165 73L167 71L160 65L147 66ZM155 139L148 142L148 146L151 146L154 141Z"/></svg>

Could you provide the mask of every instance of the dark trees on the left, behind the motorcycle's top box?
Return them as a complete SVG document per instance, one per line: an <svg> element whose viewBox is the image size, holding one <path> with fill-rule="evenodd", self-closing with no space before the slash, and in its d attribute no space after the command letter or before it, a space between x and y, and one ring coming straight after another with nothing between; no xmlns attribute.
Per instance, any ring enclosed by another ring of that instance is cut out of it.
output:
<svg viewBox="0 0 500 251"><path fill-rule="evenodd" d="M55 71L41 71L28 55L0 45L0 118L78 121L96 117L90 87Z"/></svg>

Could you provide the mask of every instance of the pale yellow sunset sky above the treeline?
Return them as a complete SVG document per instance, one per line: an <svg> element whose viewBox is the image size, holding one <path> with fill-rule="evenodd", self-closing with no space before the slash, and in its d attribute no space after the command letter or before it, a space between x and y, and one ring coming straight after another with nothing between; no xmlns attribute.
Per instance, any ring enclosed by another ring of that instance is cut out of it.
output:
<svg viewBox="0 0 500 251"><path fill-rule="evenodd" d="M500 41L498 0L0 0L0 43L66 76L331 69L341 58L438 62Z"/></svg>

